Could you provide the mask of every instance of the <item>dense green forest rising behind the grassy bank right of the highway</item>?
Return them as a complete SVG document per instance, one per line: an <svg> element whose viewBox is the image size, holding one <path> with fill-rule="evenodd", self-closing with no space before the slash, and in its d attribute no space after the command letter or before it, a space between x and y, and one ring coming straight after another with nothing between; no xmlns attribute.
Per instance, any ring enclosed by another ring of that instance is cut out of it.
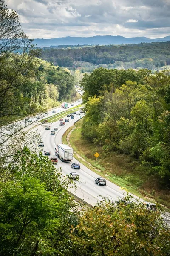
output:
<svg viewBox="0 0 170 256"><path fill-rule="evenodd" d="M99 68L85 74L82 87L82 136L108 154L138 159L141 172L169 188L170 71Z"/></svg>

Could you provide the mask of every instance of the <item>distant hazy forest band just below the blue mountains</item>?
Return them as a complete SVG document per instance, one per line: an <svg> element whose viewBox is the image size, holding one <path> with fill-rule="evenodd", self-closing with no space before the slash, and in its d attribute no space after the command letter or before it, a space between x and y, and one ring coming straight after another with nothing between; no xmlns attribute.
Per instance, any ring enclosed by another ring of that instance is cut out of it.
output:
<svg viewBox="0 0 170 256"><path fill-rule="evenodd" d="M147 68L150 70L170 65L170 42L107 45L75 48L45 48L42 59L61 67L77 68L84 62L108 65L109 68ZM79 66L75 61L79 61ZM83 70L88 72L89 70Z"/></svg>

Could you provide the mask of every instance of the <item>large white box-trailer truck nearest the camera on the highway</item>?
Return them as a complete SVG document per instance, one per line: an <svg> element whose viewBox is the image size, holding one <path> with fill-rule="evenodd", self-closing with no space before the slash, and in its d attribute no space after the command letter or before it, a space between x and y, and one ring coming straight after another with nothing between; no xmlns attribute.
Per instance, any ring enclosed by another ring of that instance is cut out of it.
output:
<svg viewBox="0 0 170 256"><path fill-rule="evenodd" d="M58 144L55 155L59 157L62 162L71 162L73 160L73 148L66 144Z"/></svg>

